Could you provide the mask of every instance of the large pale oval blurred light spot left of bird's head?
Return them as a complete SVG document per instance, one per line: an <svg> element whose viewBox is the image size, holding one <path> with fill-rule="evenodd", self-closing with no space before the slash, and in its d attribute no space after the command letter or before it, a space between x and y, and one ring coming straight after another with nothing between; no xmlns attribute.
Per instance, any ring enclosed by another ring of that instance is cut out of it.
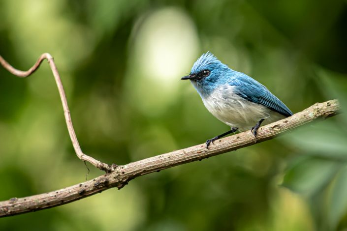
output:
<svg viewBox="0 0 347 231"><path fill-rule="evenodd" d="M126 87L142 113L160 115L177 99L180 77L189 73L199 39L179 8L163 8L140 20L133 31Z"/></svg>

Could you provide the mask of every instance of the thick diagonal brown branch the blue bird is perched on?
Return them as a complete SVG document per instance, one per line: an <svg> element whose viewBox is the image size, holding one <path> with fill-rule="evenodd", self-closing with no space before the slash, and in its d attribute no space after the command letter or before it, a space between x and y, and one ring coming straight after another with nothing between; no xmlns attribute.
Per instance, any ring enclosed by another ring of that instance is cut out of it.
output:
<svg viewBox="0 0 347 231"><path fill-rule="evenodd" d="M76 184L68 188L20 199L11 198L8 201L0 202L0 217L13 216L59 206L113 187L121 189L131 179L138 176L158 172L177 165L209 158L221 153L260 143L272 139L281 133L288 132L298 126L314 121L317 118L327 118L336 115L339 110L340 105L337 100L316 103L308 109L288 118L260 127L257 135L258 139L255 139L253 134L247 131L218 140L216 144L210 146L210 149L206 149L205 144L199 144L129 163L127 165L114 167L111 173L98 176L93 180Z"/></svg>

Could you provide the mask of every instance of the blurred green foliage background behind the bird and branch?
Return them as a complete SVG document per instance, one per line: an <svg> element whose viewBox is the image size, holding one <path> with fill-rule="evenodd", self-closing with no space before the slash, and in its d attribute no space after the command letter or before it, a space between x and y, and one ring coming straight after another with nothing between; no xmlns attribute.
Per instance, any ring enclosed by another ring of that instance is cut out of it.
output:
<svg viewBox="0 0 347 231"><path fill-rule="evenodd" d="M345 108L346 26L346 0L0 0L0 54L24 70L51 53L84 152L126 164L228 129L180 82L206 51L293 112ZM338 115L0 230L345 230L346 127ZM46 63L28 79L0 68L0 153L0 200L85 180Z"/></svg>

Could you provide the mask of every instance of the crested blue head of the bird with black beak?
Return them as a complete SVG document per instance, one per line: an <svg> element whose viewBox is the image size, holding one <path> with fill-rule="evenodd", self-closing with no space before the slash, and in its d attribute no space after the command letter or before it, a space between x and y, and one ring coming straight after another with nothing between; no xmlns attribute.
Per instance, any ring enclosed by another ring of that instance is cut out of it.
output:
<svg viewBox="0 0 347 231"><path fill-rule="evenodd" d="M181 80L190 80L200 94L206 95L221 84L223 76L229 70L227 65L207 52L195 61L189 75L182 77Z"/></svg>

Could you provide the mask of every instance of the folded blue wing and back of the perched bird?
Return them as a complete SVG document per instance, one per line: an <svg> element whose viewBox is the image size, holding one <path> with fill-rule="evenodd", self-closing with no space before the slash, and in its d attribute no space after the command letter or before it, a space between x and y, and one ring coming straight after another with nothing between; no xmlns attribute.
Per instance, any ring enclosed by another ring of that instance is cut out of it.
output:
<svg viewBox="0 0 347 231"><path fill-rule="evenodd" d="M273 95L265 86L258 83L248 75L236 72L229 84L237 87L237 94L242 98L264 105L271 110L284 116L293 115L293 113L282 103L275 95Z"/></svg>

